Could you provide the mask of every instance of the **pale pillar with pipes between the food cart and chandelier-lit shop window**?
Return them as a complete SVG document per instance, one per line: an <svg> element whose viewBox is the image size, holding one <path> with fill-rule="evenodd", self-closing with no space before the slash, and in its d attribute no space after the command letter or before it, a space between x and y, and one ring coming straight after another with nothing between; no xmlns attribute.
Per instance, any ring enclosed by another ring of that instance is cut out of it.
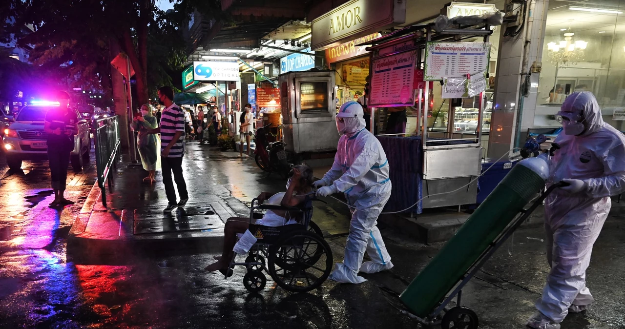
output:
<svg viewBox="0 0 625 329"><path fill-rule="evenodd" d="M506 0L506 5L511 3L511 0ZM529 1L527 4L529 6ZM528 36L530 44L526 72L522 72L522 64L527 26L514 37L504 36L507 24L500 27L497 80L488 142L488 157L492 160L499 159L515 147L516 143L522 144L526 139L527 129L534 125L538 97L538 73L531 73L529 76L529 95L522 99L519 96L522 94L522 82L525 82L526 74L531 72L532 64L542 62L542 42L548 7L549 0L536 1L532 13L534 17L532 31Z"/></svg>

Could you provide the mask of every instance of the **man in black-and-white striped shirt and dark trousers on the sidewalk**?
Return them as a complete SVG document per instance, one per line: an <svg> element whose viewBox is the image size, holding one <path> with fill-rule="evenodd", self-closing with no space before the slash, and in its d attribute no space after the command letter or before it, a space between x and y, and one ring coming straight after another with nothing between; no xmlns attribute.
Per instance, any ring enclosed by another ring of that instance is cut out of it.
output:
<svg viewBox="0 0 625 329"><path fill-rule="evenodd" d="M163 184L167 195L168 206L163 212L172 212L176 207L184 207L189 200L187 184L183 177L184 155L184 113L174 102L174 91L164 86L158 89L158 99L163 102L165 109L161 114L161 126L150 130L152 134L161 134L161 167L163 169ZM178 186L180 202L176 204L176 189L171 180L171 174Z"/></svg>

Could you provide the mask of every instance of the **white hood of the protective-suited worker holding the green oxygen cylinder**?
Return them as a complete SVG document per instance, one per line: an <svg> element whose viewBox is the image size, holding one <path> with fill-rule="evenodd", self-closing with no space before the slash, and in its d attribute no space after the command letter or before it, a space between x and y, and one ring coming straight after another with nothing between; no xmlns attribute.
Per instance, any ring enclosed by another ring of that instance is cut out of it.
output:
<svg viewBox="0 0 625 329"><path fill-rule="evenodd" d="M605 124L601 117L599 103L597 103L597 99L592 92L589 91L574 92L571 96L566 97L562 104L561 112L582 114L584 116L586 130L581 134L582 136L596 132Z"/></svg>

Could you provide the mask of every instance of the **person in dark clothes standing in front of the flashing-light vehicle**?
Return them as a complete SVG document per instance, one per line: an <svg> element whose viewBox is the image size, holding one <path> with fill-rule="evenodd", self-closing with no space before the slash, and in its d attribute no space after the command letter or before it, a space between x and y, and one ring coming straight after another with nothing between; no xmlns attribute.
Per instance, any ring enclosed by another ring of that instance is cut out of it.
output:
<svg viewBox="0 0 625 329"><path fill-rule="evenodd" d="M78 134L76 112L69 110L69 94L65 91L56 93L59 107L53 107L46 113L44 131L47 133L47 159L50 166L54 201L51 207L71 205L73 201L65 199L65 184L68 179L69 154L74 149L74 135Z"/></svg>

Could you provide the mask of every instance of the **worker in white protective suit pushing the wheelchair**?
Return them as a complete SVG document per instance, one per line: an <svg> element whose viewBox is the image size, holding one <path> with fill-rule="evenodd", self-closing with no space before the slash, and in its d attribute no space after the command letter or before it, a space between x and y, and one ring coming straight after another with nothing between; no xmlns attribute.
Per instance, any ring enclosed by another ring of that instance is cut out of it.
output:
<svg viewBox="0 0 625 329"><path fill-rule="evenodd" d="M336 128L341 138L332 168L314 183L317 196L343 192L352 213L343 263L337 263L330 279L341 283L362 283L359 271L376 273L392 268L377 216L391 196L389 164L382 145L364 129L362 106L346 102L336 114ZM362 263L364 252L371 262Z"/></svg>

